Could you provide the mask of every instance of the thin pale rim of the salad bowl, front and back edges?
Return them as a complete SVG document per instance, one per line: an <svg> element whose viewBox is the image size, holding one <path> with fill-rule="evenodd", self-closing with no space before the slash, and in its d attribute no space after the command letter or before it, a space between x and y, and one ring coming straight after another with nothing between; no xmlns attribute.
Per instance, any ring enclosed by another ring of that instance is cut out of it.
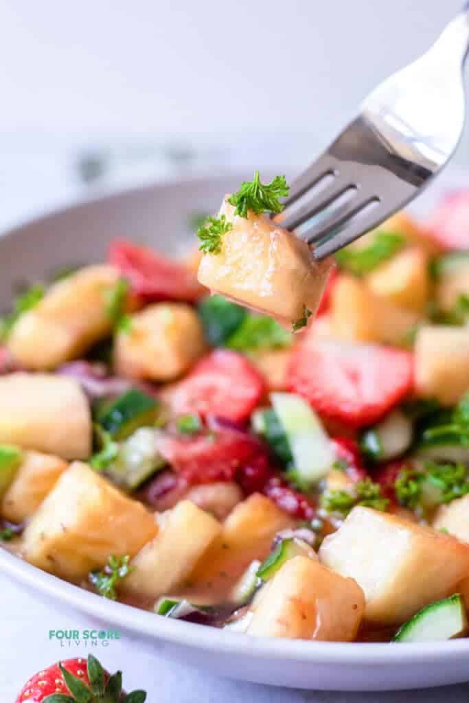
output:
<svg viewBox="0 0 469 703"><path fill-rule="evenodd" d="M91 197L79 198L65 207L56 207L38 213L37 217L25 219L5 231L0 231L0 247L25 228L53 218L57 214L74 212L87 205L100 202L113 202L122 195L152 191L155 188L174 188L208 182L239 175L241 169L226 171L219 169L215 174L195 174L184 178L171 178L157 183L143 183L133 188L120 188L104 191ZM469 654L469 638L431 643L336 643L290 640L287 638L249 637L243 633L226 631L199 624L188 623L165 617L152 617L152 613L140 608L102 598L84 588L63 581L41 569L28 564L20 557L0 547L0 573L9 579L19 581L32 591L59 600L84 615L103 619L113 626L144 636L153 641L166 641L172 645L191 647L194 650L217 654L295 661L304 664L340 664L342 666L393 666L431 664L456 657L461 659ZM205 636L201 637L201 628Z"/></svg>

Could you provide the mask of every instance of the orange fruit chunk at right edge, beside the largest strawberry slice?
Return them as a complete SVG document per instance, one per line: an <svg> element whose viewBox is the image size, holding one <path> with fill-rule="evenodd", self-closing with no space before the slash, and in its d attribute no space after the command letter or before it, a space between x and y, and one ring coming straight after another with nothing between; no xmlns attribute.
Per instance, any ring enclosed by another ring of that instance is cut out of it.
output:
<svg viewBox="0 0 469 703"><path fill-rule="evenodd" d="M469 388L469 328L427 325L415 346L416 394L452 406Z"/></svg>

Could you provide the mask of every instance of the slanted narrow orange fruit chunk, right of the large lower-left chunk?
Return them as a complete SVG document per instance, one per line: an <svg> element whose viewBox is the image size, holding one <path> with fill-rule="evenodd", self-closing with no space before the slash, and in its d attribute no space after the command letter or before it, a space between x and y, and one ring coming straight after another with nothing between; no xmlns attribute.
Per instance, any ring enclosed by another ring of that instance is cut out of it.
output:
<svg viewBox="0 0 469 703"><path fill-rule="evenodd" d="M131 561L135 567L122 583L124 593L146 598L179 586L219 535L221 524L191 501L181 501L162 513L160 529Z"/></svg>

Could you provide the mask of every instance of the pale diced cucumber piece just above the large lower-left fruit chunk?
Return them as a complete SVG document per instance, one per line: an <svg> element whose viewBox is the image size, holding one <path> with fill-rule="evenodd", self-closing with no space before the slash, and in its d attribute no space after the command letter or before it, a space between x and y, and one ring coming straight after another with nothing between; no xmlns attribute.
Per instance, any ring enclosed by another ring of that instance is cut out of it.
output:
<svg viewBox="0 0 469 703"><path fill-rule="evenodd" d="M134 490L156 471L165 466L165 460L156 449L154 427L139 427L120 445L117 457L106 468L106 474L115 483Z"/></svg>

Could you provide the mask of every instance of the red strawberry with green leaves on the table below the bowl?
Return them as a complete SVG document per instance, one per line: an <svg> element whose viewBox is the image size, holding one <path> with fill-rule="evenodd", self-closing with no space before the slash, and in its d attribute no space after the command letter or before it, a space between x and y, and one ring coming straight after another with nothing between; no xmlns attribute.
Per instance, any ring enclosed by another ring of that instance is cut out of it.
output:
<svg viewBox="0 0 469 703"><path fill-rule="evenodd" d="M15 703L144 703L146 692L122 691L122 673L110 676L92 654L88 660L68 659L39 671Z"/></svg>

